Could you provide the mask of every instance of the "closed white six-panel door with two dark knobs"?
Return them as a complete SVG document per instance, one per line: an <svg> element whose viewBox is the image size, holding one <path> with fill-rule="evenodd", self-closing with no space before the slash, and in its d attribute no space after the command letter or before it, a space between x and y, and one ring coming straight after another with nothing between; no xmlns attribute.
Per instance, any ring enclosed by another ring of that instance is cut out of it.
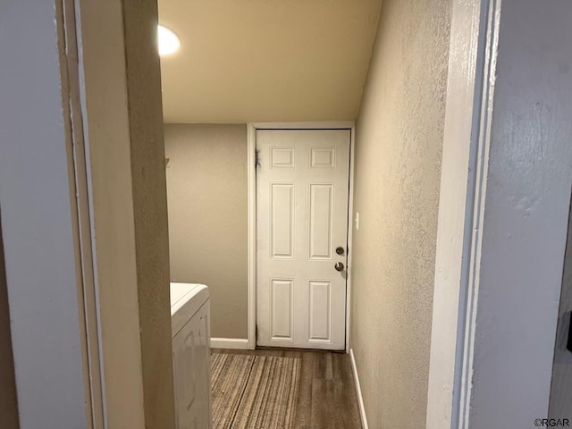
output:
<svg viewBox="0 0 572 429"><path fill-rule="evenodd" d="M345 347L349 142L349 130L257 130L259 346Z"/></svg>

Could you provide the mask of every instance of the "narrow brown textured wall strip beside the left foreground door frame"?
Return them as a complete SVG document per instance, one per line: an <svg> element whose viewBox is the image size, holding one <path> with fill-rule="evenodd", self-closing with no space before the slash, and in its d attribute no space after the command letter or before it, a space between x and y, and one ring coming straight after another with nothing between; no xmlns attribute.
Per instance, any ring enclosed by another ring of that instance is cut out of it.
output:
<svg viewBox="0 0 572 429"><path fill-rule="evenodd" d="M169 231L156 1L123 1L145 427L175 425Z"/></svg>

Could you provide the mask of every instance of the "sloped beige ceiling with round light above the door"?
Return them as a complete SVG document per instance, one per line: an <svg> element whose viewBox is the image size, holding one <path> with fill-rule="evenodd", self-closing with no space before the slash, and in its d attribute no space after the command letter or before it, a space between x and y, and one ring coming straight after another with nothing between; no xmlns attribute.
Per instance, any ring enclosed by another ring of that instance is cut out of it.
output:
<svg viewBox="0 0 572 429"><path fill-rule="evenodd" d="M354 120L380 0L159 0L164 122Z"/></svg>

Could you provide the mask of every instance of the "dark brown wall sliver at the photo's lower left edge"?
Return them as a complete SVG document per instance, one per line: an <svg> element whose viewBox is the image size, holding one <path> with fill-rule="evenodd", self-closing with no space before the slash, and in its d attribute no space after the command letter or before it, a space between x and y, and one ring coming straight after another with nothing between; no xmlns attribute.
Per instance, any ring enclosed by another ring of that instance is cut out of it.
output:
<svg viewBox="0 0 572 429"><path fill-rule="evenodd" d="M10 335L8 285L6 284L2 243L2 228L0 228L0 422L2 422L3 429L17 429L20 425Z"/></svg>

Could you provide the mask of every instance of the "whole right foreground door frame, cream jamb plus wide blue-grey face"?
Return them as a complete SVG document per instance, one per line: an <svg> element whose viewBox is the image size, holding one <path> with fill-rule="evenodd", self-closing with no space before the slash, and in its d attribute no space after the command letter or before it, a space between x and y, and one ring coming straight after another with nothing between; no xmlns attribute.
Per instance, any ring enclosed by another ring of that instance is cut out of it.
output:
<svg viewBox="0 0 572 429"><path fill-rule="evenodd" d="M556 84L568 81L560 72L547 77L543 68L562 57L561 47L550 44L563 34L556 30L562 27L551 24L559 6L540 16L535 7L532 0L518 6L502 0L452 4L427 429L499 426L500 416L521 426L549 416L572 152L566 131L556 131L565 121L562 116L536 122L533 103L526 103L542 100L543 109L552 113L568 112L572 105L560 95L570 91L569 85L555 89L537 80L543 75ZM526 55L522 46L530 40L521 38L525 31L518 24L525 19L534 21L528 35L537 38ZM543 62L536 61L541 51ZM516 85L515 67L525 71ZM526 108L515 111L516 105ZM511 122L515 114L517 124ZM515 150L512 141L522 139L514 132L520 123L532 124L526 130L531 138ZM518 150L526 152L518 158L526 159L522 164L514 162ZM515 166L499 176L510 164ZM532 185L539 182L542 187ZM527 219L529 206L508 203L508 195L540 201L535 216ZM526 246L509 245L513 236ZM518 266L541 255L534 265ZM524 347L519 332L526 332ZM508 357L515 356L518 363L511 365ZM511 383L519 379L527 383Z"/></svg>

